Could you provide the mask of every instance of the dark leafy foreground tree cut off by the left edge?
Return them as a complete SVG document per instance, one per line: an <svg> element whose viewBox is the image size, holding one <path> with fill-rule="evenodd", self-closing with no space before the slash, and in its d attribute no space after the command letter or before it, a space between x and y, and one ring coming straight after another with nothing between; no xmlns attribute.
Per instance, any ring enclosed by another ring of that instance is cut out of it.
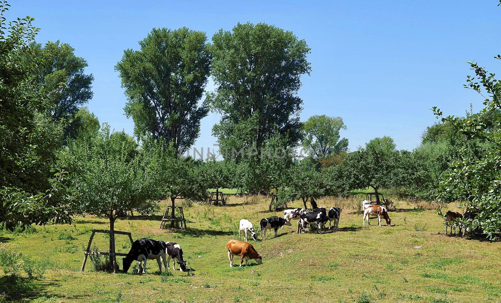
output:
<svg viewBox="0 0 501 303"><path fill-rule="evenodd" d="M0 2L0 223L12 230L70 221L71 201L55 195L66 175L55 166L61 125L41 114L51 103L34 80L39 61L23 60L39 29L30 17L7 23L9 7Z"/></svg>

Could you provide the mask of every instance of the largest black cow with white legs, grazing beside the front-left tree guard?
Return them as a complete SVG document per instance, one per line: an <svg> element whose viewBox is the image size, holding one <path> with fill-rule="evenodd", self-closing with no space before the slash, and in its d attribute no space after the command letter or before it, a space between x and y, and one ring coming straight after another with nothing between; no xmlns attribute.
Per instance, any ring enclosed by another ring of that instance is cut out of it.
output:
<svg viewBox="0 0 501 303"><path fill-rule="evenodd" d="M167 268L167 262L165 261L166 250L167 244L164 241L151 240L147 238L134 241L127 256L122 258L123 272L127 272L129 270L132 261L137 261L139 263L137 273L145 273L147 259L156 259L158 262L158 270L162 272L162 262L160 261L160 258L162 258L163 265ZM144 266L141 266L143 262Z"/></svg>

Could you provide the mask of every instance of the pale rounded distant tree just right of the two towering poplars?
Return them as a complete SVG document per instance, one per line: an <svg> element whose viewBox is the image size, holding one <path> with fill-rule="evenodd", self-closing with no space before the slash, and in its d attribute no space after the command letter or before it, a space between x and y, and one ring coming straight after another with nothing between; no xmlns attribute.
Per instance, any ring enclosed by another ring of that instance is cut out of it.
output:
<svg viewBox="0 0 501 303"><path fill-rule="evenodd" d="M311 155L315 155L317 159L346 153L348 139L340 139L339 131L341 129L347 129L341 117L311 116L303 124L303 146L308 148Z"/></svg>

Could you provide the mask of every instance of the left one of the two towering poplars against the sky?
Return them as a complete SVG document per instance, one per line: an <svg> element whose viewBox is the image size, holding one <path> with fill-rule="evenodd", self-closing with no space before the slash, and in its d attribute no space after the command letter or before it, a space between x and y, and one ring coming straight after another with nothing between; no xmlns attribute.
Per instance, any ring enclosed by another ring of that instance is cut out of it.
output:
<svg viewBox="0 0 501 303"><path fill-rule="evenodd" d="M185 27L153 29L139 42L140 50L125 50L115 66L136 135L166 139L176 155L195 142L208 113L206 102L199 105L209 75L206 40L205 33Z"/></svg>

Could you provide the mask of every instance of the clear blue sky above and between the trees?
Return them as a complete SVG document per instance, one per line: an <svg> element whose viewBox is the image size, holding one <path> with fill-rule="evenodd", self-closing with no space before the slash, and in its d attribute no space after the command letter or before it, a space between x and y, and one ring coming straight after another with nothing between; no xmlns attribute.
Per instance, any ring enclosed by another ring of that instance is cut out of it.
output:
<svg viewBox="0 0 501 303"><path fill-rule="evenodd" d="M481 97L462 88L467 61L499 70L501 7L485 1L31 1L10 0L8 20L29 15L41 28L38 42L69 43L95 77L89 109L101 122L132 134L124 116L126 97L114 71L123 50L138 49L153 27L186 26L207 33L237 23L266 22L293 31L312 48L311 76L299 96L302 120L314 114L341 116L350 149L389 135L397 148L412 149L436 121L430 108L464 114ZM209 83L208 91L214 86ZM195 146L216 142L211 128L219 116L202 120Z"/></svg>

